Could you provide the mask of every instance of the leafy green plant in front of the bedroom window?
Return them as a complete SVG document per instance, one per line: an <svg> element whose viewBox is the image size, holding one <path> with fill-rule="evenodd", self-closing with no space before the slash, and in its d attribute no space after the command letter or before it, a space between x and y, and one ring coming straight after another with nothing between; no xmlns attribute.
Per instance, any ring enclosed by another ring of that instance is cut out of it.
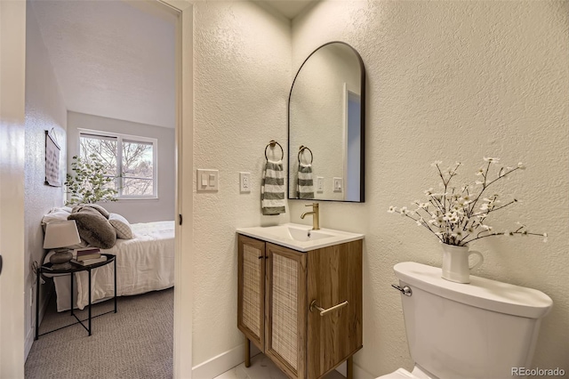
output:
<svg viewBox="0 0 569 379"><path fill-rule="evenodd" d="M68 173L65 186L66 193L71 194L66 205L92 204L98 201L116 201L116 189L111 188L114 178L108 168L95 154L86 159L73 157L71 169L74 175Z"/></svg>

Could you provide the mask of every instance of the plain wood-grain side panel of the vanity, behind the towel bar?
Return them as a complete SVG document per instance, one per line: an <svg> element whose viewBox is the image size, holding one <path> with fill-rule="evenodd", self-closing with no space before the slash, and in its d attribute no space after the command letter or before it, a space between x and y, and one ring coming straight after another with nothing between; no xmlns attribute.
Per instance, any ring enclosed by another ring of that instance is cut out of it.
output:
<svg viewBox="0 0 569 379"><path fill-rule="evenodd" d="M308 378L316 379L362 348L362 241L308 253L308 303L329 309L309 310Z"/></svg>

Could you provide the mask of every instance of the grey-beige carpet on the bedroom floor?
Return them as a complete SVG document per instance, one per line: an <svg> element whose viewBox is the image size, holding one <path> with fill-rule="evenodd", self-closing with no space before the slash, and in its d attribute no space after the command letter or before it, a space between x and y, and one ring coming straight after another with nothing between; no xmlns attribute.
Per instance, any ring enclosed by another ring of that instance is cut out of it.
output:
<svg viewBox="0 0 569 379"><path fill-rule="evenodd" d="M77 324L34 341L26 378L170 379L173 355L173 288L117 299L117 313L92 319L92 335ZM113 301L92 306L92 315L113 310ZM87 319L87 309L77 310ZM39 333L75 318L50 302ZM85 325L87 323L85 322Z"/></svg>

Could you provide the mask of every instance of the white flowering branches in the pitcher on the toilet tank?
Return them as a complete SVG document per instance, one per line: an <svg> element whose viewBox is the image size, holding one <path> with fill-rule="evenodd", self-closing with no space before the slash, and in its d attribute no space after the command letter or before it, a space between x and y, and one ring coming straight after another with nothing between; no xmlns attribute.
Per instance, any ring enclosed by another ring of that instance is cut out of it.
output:
<svg viewBox="0 0 569 379"><path fill-rule="evenodd" d="M427 202L421 203L415 200L412 204L417 206L415 210L409 210L406 206L397 208L389 206L389 213L397 213L402 216L409 217L419 226L427 228L431 233L435 234L441 242L448 245L465 246L469 242L480 238L493 236L541 236L543 241L547 241L547 233L532 233L525 229L525 225L519 224L520 227L514 231L492 232L493 228L485 224L488 214L498 211L506 206L517 203L517 198L509 201L504 205L498 199L498 195L494 194L488 198L483 198L485 190L494 182L499 181L505 176L517 170L524 170L525 165L521 162L516 167L501 167L494 179L490 179L489 173L492 165L497 164L500 158L485 157L486 164L481 167L477 175L481 175L484 180L475 181L474 185L482 186L477 196L470 195L470 187L472 184L465 185L460 190L451 187L450 182L456 176L460 162L457 162L454 168L449 167L445 173L441 170L441 161L436 161L432 166L437 167L438 174L442 180L440 184L443 189L442 193L434 193L433 189L424 191L428 197ZM482 205L477 207L479 202Z"/></svg>

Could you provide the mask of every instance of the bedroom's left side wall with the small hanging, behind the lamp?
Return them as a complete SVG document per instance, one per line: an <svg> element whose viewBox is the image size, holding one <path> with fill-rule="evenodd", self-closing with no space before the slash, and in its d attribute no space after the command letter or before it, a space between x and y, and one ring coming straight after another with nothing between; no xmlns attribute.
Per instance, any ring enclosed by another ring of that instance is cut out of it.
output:
<svg viewBox="0 0 569 379"><path fill-rule="evenodd" d="M47 49L39 31L36 15L28 7L26 29L26 167L25 167L25 275L26 275L26 355L31 348L36 326L36 308L29 304L36 294L36 276L31 263L43 263L44 231L41 221L54 206L63 205L63 187L45 181L45 130L60 145L60 184L66 173L67 109L63 103ZM49 300L48 286L41 286L41 307ZM34 298L34 302L35 302ZM40 315L42 317L42 315ZM32 327L33 326L33 327Z"/></svg>

